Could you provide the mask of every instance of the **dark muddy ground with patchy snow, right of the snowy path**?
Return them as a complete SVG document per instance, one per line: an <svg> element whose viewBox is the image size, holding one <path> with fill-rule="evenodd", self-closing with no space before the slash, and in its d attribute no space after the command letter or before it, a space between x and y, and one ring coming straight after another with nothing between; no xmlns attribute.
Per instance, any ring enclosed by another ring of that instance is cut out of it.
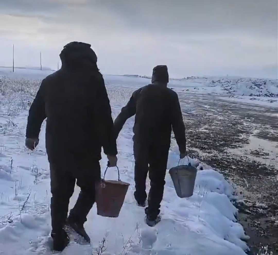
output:
<svg viewBox="0 0 278 255"><path fill-rule="evenodd" d="M240 200L249 254L278 254L278 108L179 95L188 152L222 172ZM188 112L193 108L193 112Z"/></svg>

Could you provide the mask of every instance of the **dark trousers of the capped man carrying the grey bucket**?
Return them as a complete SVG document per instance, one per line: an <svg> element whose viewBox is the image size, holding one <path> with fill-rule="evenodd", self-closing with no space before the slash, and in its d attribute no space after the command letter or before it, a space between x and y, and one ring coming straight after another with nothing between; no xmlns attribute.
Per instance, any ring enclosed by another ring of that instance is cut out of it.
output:
<svg viewBox="0 0 278 255"><path fill-rule="evenodd" d="M143 204L147 199L146 179L149 173L151 187L148 194L148 207L145 211L149 217L156 218L160 213L159 208L163 198L169 147L134 141L133 152L135 158L134 197L138 204Z"/></svg>

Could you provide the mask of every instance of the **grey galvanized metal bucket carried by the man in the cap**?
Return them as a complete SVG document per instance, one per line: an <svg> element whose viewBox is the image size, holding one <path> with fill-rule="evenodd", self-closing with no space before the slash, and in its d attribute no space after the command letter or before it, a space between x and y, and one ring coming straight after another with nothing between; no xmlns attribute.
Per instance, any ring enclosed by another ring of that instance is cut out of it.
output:
<svg viewBox="0 0 278 255"><path fill-rule="evenodd" d="M189 162L189 159L188 159ZM193 195L197 168L190 163L179 165L169 170L178 197L185 198Z"/></svg>

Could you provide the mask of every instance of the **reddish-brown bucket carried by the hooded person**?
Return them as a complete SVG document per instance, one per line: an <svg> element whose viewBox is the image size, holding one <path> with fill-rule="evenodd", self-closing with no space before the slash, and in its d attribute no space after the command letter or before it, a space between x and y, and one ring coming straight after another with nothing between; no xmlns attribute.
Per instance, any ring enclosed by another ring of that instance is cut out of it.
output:
<svg viewBox="0 0 278 255"><path fill-rule="evenodd" d="M104 172L103 179L96 186L97 214L103 217L116 218L120 214L130 184L120 180L120 171L118 167L117 181L104 180L107 169L108 167Z"/></svg>

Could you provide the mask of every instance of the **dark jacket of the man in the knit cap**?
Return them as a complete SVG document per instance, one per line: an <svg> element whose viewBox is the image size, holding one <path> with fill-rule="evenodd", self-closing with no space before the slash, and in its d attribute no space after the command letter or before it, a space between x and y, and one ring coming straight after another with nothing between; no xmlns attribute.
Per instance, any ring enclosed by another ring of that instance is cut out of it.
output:
<svg viewBox="0 0 278 255"><path fill-rule="evenodd" d="M155 78L153 81L156 82ZM180 152L186 151L185 126L178 95L166 84L149 84L133 92L114 121L117 137L126 120L135 115L133 140L136 143L170 147L173 128Z"/></svg>

